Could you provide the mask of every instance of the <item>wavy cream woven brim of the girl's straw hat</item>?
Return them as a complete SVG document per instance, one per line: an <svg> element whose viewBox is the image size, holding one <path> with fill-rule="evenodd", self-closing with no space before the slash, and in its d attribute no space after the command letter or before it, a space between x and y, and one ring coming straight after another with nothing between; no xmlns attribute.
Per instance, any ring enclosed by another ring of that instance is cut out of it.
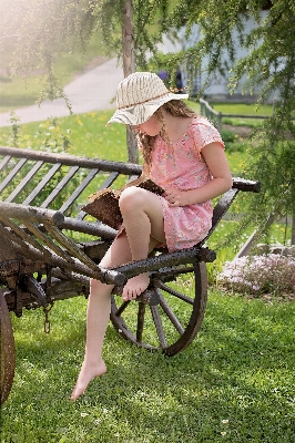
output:
<svg viewBox="0 0 295 443"><path fill-rule="evenodd" d="M162 97L150 100L149 102L136 104L131 107L124 107L116 110L113 116L109 120L110 123L123 123L130 125L139 125L149 120L160 106L171 100L185 100L189 99L189 94L173 94L169 93Z"/></svg>

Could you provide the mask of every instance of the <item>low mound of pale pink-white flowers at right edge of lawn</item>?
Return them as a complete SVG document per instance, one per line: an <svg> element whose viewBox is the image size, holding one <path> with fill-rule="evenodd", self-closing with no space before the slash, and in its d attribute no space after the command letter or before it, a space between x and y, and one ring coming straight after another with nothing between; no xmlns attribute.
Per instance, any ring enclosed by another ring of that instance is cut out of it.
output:
<svg viewBox="0 0 295 443"><path fill-rule="evenodd" d="M236 258L225 262L218 282L242 293L295 293L295 259L277 254Z"/></svg>

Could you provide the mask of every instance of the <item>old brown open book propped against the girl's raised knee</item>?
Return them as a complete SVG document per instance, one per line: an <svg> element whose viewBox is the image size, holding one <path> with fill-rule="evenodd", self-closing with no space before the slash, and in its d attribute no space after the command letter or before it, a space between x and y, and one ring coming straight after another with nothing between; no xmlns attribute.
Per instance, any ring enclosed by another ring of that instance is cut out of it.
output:
<svg viewBox="0 0 295 443"><path fill-rule="evenodd" d="M126 187L138 186L143 189L150 190L154 194L162 195L164 189L157 186L153 181L141 175L139 178L129 182L126 185L119 189L101 189L88 197L89 203L82 208L87 214L92 215L100 222L119 229L122 224L122 215L119 208L119 197Z"/></svg>

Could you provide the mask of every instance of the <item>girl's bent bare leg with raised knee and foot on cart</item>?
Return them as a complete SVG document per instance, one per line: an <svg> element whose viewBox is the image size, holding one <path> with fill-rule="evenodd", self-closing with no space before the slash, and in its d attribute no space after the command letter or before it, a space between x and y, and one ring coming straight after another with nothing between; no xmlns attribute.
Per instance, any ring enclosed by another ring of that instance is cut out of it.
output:
<svg viewBox="0 0 295 443"><path fill-rule="evenodd" d="M161 200L157 195L132 186L123 190L119 203L132 260L144 259L157 243L165 243ZM149 282L148 272L131 278L123 289L123 300L136 298Z"/></svg>

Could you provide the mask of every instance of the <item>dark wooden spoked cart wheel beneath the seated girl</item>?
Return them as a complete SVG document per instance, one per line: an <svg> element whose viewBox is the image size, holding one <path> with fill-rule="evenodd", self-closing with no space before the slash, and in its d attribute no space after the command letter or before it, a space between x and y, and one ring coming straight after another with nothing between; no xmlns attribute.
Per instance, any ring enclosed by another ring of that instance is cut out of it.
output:
<svg viewBox="0 0 295 443"><path fill-rule="evenodd" d="M112 296L111 320L120 336L132 343L174 356L201 328L207 298L206 265L171 268L154 286L160 298L155 306Z"/></svg>

